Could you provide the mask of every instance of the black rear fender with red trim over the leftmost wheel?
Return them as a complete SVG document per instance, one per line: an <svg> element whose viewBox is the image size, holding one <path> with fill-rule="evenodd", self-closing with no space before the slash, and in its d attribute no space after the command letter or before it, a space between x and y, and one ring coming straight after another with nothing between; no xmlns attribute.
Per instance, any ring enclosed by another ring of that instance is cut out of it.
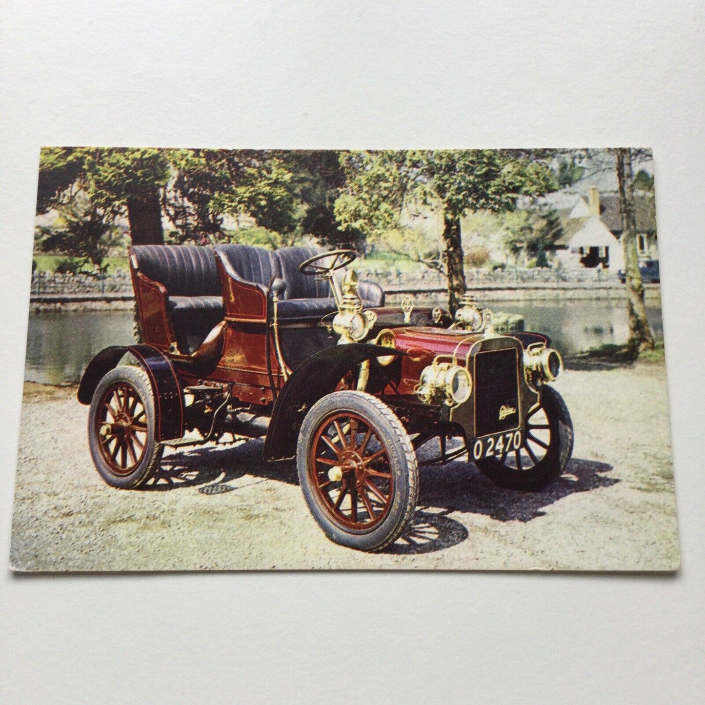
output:
<svg viewBox="0 0 705 705"><path fill-rule="evenodd" d="M145 370L154 391L154 437L168 441L183 436L183 394L168 357L152 345L111 345L101 350L86 367L78 386L78 400L90 404L101 379L131 353Z"/></svg>

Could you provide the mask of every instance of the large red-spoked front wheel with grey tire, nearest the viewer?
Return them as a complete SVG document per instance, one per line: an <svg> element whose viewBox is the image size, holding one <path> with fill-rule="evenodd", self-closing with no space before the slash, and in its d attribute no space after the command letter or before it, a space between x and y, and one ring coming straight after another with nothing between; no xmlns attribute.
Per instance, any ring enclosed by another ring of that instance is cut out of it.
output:
<svg viewBox="0 0 705 705"><path fill-rule="evenodd" d="M360 391L324 396L304 419L296 459L309 510L336 544L379 551L404 532L418 498L417 460L379 399Z"/></svg>

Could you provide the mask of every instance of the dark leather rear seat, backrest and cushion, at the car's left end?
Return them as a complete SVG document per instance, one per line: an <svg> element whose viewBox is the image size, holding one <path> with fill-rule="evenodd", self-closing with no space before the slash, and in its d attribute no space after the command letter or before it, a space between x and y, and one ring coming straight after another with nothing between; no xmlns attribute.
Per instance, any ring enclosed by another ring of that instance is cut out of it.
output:
<svg viewBox="0 0 705 705"><path fill-rule="evenodd" d="M181 353L192 355L223 320L223 297L211 247L133 245L137 269L166 288L166 309Z"/></svg>

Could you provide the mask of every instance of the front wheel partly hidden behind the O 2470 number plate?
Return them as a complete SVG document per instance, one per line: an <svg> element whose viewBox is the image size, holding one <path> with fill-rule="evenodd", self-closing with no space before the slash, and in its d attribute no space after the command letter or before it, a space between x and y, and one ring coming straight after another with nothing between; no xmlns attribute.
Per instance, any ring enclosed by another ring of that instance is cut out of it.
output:
<svg viewBox="0 0 705 705"><path fill-rule="evenodd" d="M527 417L522 446L500 458L482 458L475 465L492 482L507 489L537 490L563 473L572 455L573 428L563 397L544 386L541 400Z"/></svg>

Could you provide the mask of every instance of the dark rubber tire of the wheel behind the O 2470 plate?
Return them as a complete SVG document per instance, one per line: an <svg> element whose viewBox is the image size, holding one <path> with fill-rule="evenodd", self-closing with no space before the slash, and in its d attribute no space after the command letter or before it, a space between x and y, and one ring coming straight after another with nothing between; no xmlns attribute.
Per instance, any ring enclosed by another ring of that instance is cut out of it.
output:
<svg viewBox="0 0 705 705"><path fill-rule="evenodd" d="M496 458L475 460L477 469L494 484L505 489L537 491L560 477L568 465L573 448L573 427L563 397L550 386L541 388L541 406L551 425L551 443L544 458L531 470L506 467Z"/></svg>

